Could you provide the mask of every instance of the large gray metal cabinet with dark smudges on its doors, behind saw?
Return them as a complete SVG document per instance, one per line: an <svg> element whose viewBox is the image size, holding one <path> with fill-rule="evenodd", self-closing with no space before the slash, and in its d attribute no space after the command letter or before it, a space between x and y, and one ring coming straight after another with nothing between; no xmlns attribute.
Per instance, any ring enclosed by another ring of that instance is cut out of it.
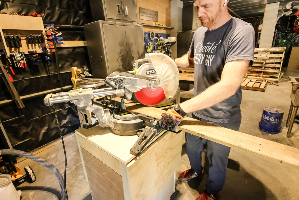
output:
<svg viewBox="0 0 299 200"><path fill-rule="evenodd" d="M133 70L145 57L143 25L100 20L84 25L84 33L93 78Z"/></svg>

